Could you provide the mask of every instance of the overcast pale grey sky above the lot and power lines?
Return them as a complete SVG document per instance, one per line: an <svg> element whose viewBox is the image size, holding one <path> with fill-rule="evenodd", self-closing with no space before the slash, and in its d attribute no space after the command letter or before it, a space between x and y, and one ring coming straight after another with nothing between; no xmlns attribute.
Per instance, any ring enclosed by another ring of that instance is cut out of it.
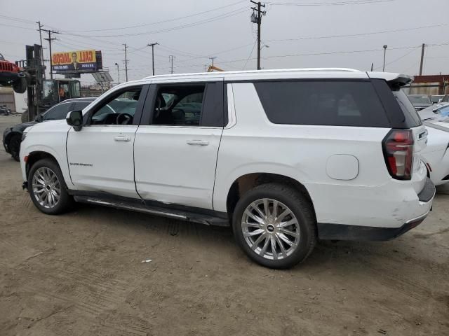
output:
<svg viewBox="0 0 449 336"><path fill-rule="evenodd" d="M449 73L448 0L265 3L264 69L369 70L373 62L382 71L382 45L388 45L385 70L414 75L421 44L426 43L423 73ZM250 22L250 5L249 0L0 0L0 52L6 59L24 58L25 44L39 43L33 22L40 20L44 28L61 33L55 35L53 52L102 50L103 65L114 80L116 62L120 80L125 78L122 43L129 45L129 80L152 74L151 48L146 45L155 42L160 43L155 47L156 74L170 72L169 55L175 57L175 73L204 71L208 57L217 57L215 65L225 70L255 69L257 27ZM46 41L43 45L48 47ZM91 75L82 79L94 81Z"/></svg>

